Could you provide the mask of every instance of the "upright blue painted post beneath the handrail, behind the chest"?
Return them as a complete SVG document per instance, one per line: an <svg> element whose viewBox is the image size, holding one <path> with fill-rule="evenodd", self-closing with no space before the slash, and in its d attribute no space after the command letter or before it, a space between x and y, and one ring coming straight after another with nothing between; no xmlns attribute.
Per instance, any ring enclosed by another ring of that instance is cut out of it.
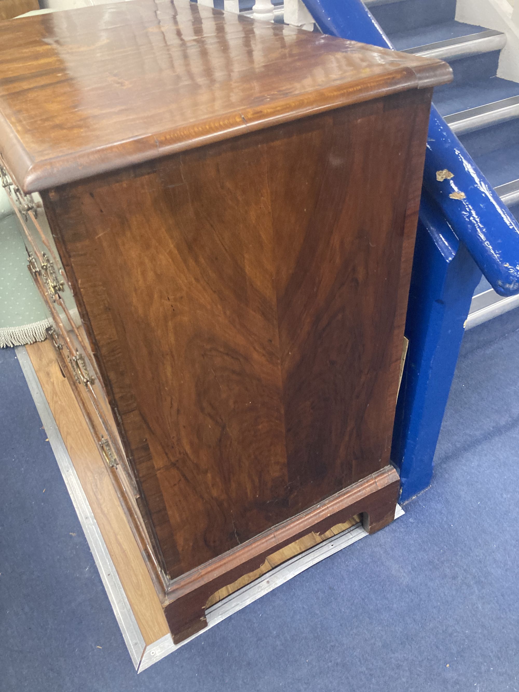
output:
<svg viewBox="0 0 519 692"><path fill-rule="evenodd" d="M391 459L401 502L431 481L464 322L481 271L438 210L423 199L409 291L409 350L394 419Z"/></svg>

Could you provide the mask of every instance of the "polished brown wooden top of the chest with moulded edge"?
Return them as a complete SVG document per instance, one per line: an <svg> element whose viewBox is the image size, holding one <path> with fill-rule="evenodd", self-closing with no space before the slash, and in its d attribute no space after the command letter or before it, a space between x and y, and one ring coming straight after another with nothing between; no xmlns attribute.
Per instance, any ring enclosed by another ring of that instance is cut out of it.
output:
<svg viewBox="0 0 519 692"><path fill-rule="evenodd" d="M450 79L437 60L136 0L0 22L0 154L24 192Z"/></svg>

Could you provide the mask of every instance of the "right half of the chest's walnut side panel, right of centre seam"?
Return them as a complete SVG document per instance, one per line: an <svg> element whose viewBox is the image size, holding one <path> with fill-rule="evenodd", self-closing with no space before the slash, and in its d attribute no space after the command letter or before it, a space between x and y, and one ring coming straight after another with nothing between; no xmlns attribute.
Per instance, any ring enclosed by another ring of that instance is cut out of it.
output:
<svg viewBox="0 0 519 692"><path fill-rule="evenodd" d="M389 463L428 98L415 91L338 110L318 144L286 128L272 145L294 512Z"/></svg>

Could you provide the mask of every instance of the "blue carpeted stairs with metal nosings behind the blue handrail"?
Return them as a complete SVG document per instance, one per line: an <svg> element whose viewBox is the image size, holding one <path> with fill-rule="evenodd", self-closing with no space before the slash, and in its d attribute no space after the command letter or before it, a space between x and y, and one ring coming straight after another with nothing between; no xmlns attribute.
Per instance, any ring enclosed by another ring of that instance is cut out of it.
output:
<svg viewBox="0 0 519 692"><path fill-rule="evenodd" d="M456 0L365 0L397 51L446 60L454 81L433 101L502 201L519 220L519 83L497 76L507 37L455 20ZM518 56L519 60L519 56ZM517 307L482 279L467 327Z"/></svg>

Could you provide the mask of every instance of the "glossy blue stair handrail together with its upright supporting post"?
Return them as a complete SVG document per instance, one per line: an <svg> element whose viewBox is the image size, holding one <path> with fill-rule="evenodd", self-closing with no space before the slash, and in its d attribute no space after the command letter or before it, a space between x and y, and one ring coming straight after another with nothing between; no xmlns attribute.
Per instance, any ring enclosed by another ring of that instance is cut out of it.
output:
<svg viewBox="0 0 519 692"><path fill-rule="evenodd" d="M304 3L323 33L392 48L361 0ZM453 176L437 176L444 169ZM401 501L430 484L464 322L481 273L500 295L519 293L519 226L433 106L406 320L409 350L391 453L400 471Z"/></svg>

